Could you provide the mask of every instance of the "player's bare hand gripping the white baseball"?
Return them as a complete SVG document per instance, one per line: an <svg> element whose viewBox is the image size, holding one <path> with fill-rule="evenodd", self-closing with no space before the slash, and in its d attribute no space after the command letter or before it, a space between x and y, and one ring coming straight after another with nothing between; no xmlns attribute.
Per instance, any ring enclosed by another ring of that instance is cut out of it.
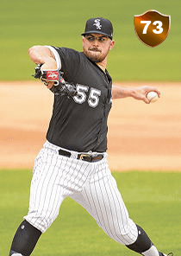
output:
<svg viewBox="0 0 181 256"><path fill-rule="evenodd" d="M160 98L159 90L154 86L140 86L134 88L133 98L143 100L145 103L149 104L151 102L150 99L147 99L147 93L155 92L158 94Z"/></svg>

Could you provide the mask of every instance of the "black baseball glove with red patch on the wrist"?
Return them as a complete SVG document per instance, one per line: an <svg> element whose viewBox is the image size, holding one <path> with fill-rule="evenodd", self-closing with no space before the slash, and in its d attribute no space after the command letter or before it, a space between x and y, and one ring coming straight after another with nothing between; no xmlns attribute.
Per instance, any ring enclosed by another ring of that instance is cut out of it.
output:
<svg viewBox="0 0 181 256"><path fill-rule="evenodd" d="M56 70L41 70L41 66L42 64L38 64L35 67L35 74L33 75L35 79L41 79L46 86L48 82L54 82L50 90L55 95L66 95L69 98L77 95L76 86L67 83L62 77L62 72Z"/></svg>

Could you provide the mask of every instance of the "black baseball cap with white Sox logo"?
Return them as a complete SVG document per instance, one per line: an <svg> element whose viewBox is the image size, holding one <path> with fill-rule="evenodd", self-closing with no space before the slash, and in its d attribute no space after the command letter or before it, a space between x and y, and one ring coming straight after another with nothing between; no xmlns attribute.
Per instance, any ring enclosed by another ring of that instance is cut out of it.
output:
<svg viewBox="0 0 181 256"><path fill-rule="evenodd" d="M102 34L107 35L112 40L113 38L113 26L112 23L102 17L90 18L86 24L84 33L81 35L87 34Z"/></svg>

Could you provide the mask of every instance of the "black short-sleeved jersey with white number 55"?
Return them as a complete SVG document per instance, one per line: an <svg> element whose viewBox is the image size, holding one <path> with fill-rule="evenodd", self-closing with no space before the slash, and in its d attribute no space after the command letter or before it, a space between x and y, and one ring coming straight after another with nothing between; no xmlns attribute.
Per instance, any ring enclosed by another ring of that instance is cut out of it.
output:
<svg viewBox="0 0 181 256"><path fill-rule="evenodd" d="M54 49L59 54L64 79L77 86L78 94L70 99L54 96L47 140L68 150L104 152L112 104L111 77L82 52Z"/></svg>

